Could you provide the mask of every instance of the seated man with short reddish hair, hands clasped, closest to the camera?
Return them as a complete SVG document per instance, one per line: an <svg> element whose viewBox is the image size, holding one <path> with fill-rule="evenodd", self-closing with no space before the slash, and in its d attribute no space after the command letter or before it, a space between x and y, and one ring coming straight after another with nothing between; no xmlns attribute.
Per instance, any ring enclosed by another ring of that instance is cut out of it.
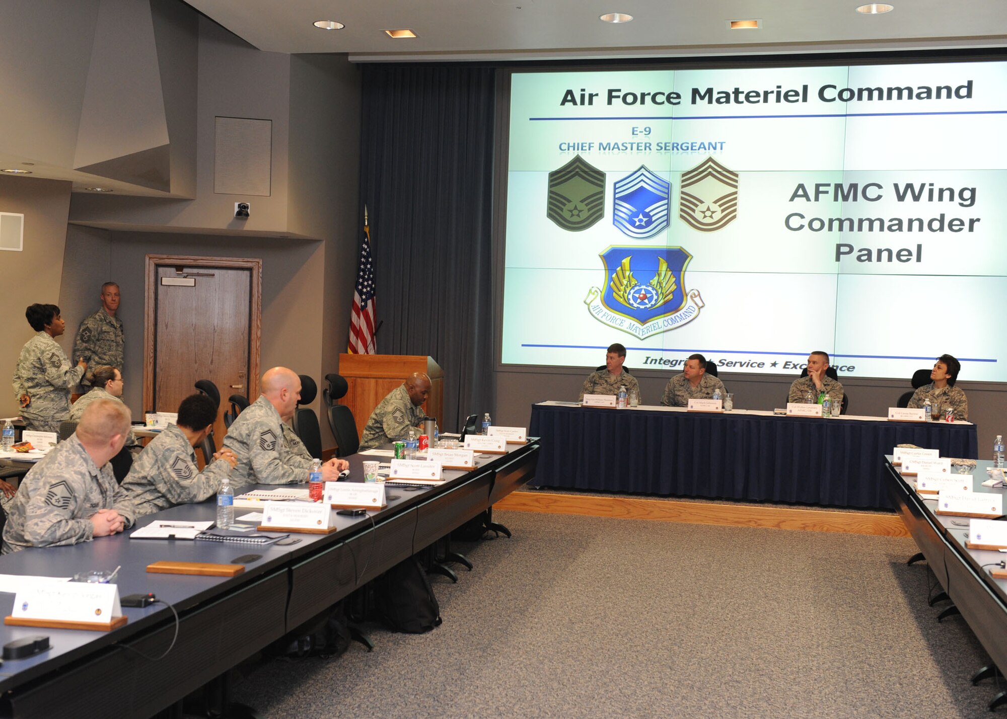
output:
<svg viewBox="0 0 1007 719"><path fill-rule="evenodd" d="M132 526L132 507L108 461L122 449L129 417L121 403L96 402L78 432L28 471L8 510L4 554L89 542Z"/></svg>

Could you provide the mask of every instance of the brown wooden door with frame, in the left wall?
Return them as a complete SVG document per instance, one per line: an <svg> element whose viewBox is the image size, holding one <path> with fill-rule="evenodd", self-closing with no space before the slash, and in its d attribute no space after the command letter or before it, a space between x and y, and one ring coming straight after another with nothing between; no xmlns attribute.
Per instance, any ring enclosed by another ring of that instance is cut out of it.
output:
<svg viewBox="0 0 1007 719"><path fill-rule="evenodd" d="M260 260L147 256L144 411L177 412L209 380L221 392L222 446L228 398L259 396L261 276Z"/></svg>

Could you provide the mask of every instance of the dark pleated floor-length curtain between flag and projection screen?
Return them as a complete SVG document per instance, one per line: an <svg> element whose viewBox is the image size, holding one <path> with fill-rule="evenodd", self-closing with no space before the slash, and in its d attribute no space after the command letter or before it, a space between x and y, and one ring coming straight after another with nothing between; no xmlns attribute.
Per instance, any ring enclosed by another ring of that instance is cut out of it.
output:
<svg viewBox="0 0 1007 719"><path fill-rule="evenodd" d="M378 350L444 370L442 430L492 412L495 70L367 65L361 214L371 225Z"/></svg>

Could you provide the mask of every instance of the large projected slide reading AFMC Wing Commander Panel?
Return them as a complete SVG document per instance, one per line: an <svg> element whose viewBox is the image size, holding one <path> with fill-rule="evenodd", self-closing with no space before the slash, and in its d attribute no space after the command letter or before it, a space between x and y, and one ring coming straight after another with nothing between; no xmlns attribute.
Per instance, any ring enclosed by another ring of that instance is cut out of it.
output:
<svg viewBox="0 0 1007 719"><path fill-rule="evenodd" d="M1007 382L1007 62L512 75L501 362Z"/></svg>

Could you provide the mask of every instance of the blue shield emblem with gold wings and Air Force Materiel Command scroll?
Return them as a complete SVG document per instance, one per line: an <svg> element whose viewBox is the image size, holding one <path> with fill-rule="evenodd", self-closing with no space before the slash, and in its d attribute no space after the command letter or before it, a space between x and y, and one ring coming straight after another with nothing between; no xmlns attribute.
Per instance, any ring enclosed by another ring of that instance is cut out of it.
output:
<svg viewBox="0 0 1007 719"><path fill-rule="evenodd" d="M598 257L603 289L588 290L584 304L599 322L645 339L699 316L703 298L699 290L686 291L692 255L682 248L612 246Z"/></svg>

